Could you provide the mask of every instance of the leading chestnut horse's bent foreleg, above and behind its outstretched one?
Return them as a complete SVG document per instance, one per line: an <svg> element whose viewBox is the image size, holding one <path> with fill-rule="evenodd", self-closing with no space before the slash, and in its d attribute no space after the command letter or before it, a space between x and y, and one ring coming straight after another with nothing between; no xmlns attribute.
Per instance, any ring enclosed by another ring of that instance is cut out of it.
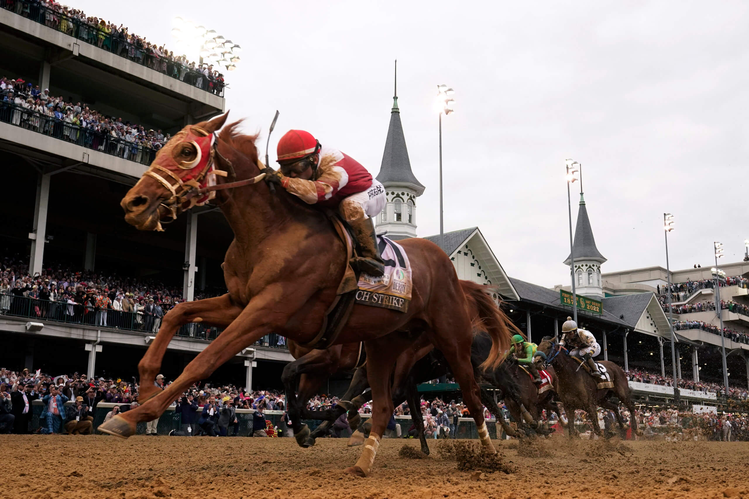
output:
<svg viewBox="0 0 749 499"><path fill-rule="evenodd" d="M218 327L227 327L241 312L242 307L234 304L228 293L216 296L216 298L183 301L169 310L161 321L156 339L148 346L148 350L138 363L139 403L143 404L160 392L154 382L161 369L161 361L169 342L172 341L172 337L179 328L189 322L206 322Z"/></svg>

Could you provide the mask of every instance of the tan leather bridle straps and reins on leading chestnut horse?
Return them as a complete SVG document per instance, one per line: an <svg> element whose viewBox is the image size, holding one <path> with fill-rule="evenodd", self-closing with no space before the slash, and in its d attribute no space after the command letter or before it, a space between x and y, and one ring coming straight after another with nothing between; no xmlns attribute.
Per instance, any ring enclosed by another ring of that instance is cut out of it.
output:
<svg viewBox="0 0 749 499"><path fill-rule="evenodd" d="M203 130L200 131L204 132ZM207 135L207 132L204 133L206 133ZM213 134L211 135L212 137L210 144L210 155L208 156L204 168L202 168L201 171L199 171L198 174L195 175L195 178L192 178L191 180L187 180L187 182L185 182L179 177L178 174L175 174L174 171L169 170L168 168L164 168L161 165L151 165L151 168L148 168L148 170L145 171L144 175L148 175L148 177L157 180L164 187L166 187L166 189L169 189L169 192L172 192L172 197L164 200L163 203L160 203L159 205L163 206L166 209L167 213L172 217L172 219L169 221L163 221L164 224L172 223L172 221L175 221L177 219L178 215L181 212L187 211L188 209L192 208L192 206L203 206L208 200L211 200L216 196L216 191L224 189L234 189L235 187L242 186L252 186L253 184L260 182L266 177L266 174L262 173L256 177L252 177L246 180L216 184L216 177L235 178L236 174L234 173L234 165L232 165L231 162L219 152L218 136L215 132L213 132ZM195 145L197 146L197 144ZM200 147L197 147L197 150L199 161ZM222 160L222 162L226 165L228 172L216 168L216 165L218 164L216 158ZM258 159L257 161L257 166L261 170L265 168L265 165L263 165L260 159ZM171 179L163 177L162 175L160 175L160 173L166 174L166 176L171 177ZM172 183L172 179L175 180L176 183ZM206 185L212 182L213 185ZM199 197L205 195L207 196L204 199L201 199L200 202L198 202L198 199L200 199ZM189 206L183 208L182 205L187 202L189 202Z"/></svg>

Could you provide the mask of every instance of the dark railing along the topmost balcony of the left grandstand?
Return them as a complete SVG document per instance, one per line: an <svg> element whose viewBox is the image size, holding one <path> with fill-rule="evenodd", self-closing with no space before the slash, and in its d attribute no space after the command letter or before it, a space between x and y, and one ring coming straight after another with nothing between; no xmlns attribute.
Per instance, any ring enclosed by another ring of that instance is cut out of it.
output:
<svg viewBox="0 0 749 499"><path fill-rule="evenodd" d="M0 0L0 8L15 12L19 16L46 25L56 31L69 34L82 42L90 43L107 52L142 64L166 76L171 76L188 85L210 92L210 94L216 94L219 97L224 95L226 85L222 80L214 79L213 76L206 76L198 70L190 69L163 55L159 56L151 49L146 49L140 40L136 43L130 43L124 38L112 35L109 31L96 28L88 22L67 16L58 12L58 10L43 7L39 1Z"/></svg>

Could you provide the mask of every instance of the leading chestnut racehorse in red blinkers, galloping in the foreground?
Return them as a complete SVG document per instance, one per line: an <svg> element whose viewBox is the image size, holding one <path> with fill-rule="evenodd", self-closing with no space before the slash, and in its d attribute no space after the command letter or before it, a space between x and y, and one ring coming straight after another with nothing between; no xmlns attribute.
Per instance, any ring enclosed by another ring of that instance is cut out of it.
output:
<svg viewBox="0 0 749 499"><path fill-rule="evenodd" d="M160 230L163 219L177 217L195 200L204 202L207 193L216 192L216 202L234 232L222 265L228 293L178 304L164 316L138 366L145 402L99 426L100 431L123 438L133 435L136 423L159 417L193 382L207 378L266 334L275 332L301 344L312 342L336 298L348 256L330 219L283 189L273 192L260 182L264 165L258 159L256 137L237 132L239 122L216 134L226 117L185 126L159 150L121 206L129 224L140 230ZM473 378L471 320L455 269L445 252L426 239L407 239L401 244L413 269L407 312L354 304L335 342L365 342L374 400L372 433L357 464L347 469L363 477L372 471L380 435L392 414L390 374L395 358L421 334L445 355L474 415L482 444L496 452ZM163 355L178 328L188 322L225 329L160 391L154 378ZM486 330L492 346L485 367L494 368L509 348L510 334L504 322L489 325Z"/></svg>

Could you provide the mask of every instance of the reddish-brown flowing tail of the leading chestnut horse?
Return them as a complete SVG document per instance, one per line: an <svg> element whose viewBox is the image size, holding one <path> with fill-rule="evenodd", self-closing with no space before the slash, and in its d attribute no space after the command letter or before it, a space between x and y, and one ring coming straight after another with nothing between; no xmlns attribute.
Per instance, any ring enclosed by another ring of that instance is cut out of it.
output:
<svg viewBox="0 0 749 499"><path fill-rule="evenodd" d="M479 367L483 370L497 369L510 348L512 334L521 334L521 331L486 293L487 287L473 281L460 283L468 303L473 330L485 331L491 337L489 356Z"/></svg>

